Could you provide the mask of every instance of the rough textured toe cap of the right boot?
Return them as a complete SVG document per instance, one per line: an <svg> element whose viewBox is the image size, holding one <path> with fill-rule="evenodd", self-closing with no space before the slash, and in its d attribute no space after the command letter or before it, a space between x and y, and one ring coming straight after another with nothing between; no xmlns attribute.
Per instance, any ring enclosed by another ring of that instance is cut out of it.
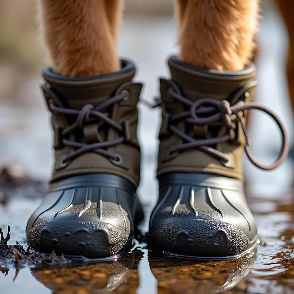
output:
<svg viewBox="0 0 294 294"><path fill-rule="evenodd" d="M165 224L149 238L157 250L196 257L239 255L249 242L245 233L231 224L201 219Z"/></svg>

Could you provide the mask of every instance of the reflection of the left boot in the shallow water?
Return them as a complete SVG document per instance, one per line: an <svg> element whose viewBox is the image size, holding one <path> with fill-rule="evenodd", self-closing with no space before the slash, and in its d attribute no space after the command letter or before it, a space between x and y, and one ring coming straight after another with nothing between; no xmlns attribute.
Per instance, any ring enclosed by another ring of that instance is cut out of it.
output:
<svg viewBox="0 0 294 294"><path fill-rule="evenodd" d="M137 265L143 253L134 250L118 261L88 263L62 269L31 269L31 273L54 294L136 293Z"/></svg>

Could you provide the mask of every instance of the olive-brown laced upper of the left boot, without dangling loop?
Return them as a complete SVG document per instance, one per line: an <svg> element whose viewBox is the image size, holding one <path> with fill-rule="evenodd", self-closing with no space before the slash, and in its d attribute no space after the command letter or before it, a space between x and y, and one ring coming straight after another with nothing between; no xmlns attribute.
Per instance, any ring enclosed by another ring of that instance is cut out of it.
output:
<svg viewBox="0 0 294 294"><path fill-rule="evenodd" d="M119 74L91 79L60 79L51 73L50 69L44 71L47 85L42 88L54 129L52 181L86 173L111 173L138 186L137 103L142 84L132 82L135 68L128 63ZM71 109L68 115L66 108ZM74 127L65 131L73 123Z"/></svg>

